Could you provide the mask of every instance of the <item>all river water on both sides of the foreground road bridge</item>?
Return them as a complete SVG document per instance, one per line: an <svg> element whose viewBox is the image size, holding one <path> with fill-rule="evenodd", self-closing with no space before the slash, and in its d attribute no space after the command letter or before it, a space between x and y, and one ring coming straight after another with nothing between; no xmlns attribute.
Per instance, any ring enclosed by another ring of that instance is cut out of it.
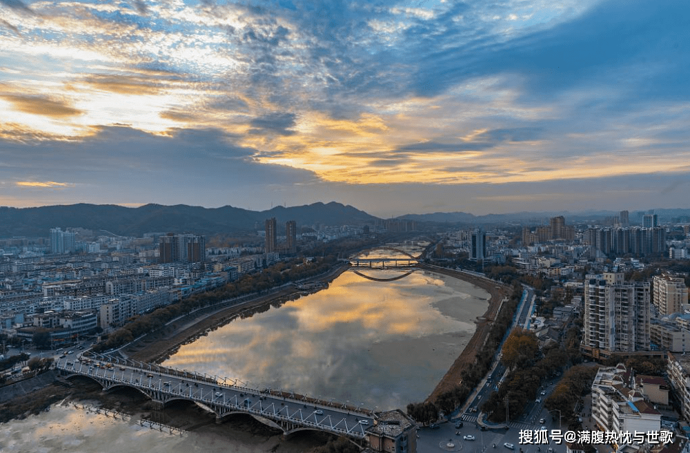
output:
<svg viewBox="0 0 690 453"><path fill-rule="evenodd" d="M402 271L362 269L374 278ZM239 378L371 409L423 401L471 338L489 293L424 271L377 282L346 271L317 293L237 318L184 345L165 365ZM226 424L227 425L227 424ZM227 427L233 430L233 427ZM193 432L180 438L83 409L0 425L0 452L272 450L279 436ZM281 451L300 451L290 441Z"/></svg>

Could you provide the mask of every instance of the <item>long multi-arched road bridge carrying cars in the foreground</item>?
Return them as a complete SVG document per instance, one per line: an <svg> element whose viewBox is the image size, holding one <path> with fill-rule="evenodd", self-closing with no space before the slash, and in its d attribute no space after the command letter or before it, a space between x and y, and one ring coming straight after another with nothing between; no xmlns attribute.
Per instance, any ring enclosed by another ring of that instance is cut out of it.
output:
<svg viewBox="0 0 690 453"><path fill-rule="evenodd" d="M302 430L325 431L346 436L363 447L366 429L376 414L363 407L313 400L273 389L257 390L237 385L239 380L203 376L186 370L100 356L60 359L57 369L66 376L85 376L109 391L119 387L137 389L159 407L170 401L193 401L214 412L218 422L233 414L249 414L284 434ZM233 381L228 383L228 380Z"/></svg>

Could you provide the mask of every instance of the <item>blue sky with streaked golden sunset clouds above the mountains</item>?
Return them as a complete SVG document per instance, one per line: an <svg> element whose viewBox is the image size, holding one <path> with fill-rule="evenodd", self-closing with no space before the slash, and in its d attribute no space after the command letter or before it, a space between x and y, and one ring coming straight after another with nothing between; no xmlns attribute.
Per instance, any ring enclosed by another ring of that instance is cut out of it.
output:
<svg viewBox="0 0 690 453"><path fill-rule="evenodd" d="M0 0L0 205L690 207L690 3Z"/></svg>

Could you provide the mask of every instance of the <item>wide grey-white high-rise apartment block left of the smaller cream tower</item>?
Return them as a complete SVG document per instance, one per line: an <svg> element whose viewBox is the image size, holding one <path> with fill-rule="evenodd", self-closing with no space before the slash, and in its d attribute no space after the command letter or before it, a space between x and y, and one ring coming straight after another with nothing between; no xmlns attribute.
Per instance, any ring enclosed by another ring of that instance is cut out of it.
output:
<svg viewBox="0 0 690 453"><path fill-rule="evenodd" d="M613 352L648 351L650 347L649 282L619 278L586 280L582 349L595 357Z"/></svg>

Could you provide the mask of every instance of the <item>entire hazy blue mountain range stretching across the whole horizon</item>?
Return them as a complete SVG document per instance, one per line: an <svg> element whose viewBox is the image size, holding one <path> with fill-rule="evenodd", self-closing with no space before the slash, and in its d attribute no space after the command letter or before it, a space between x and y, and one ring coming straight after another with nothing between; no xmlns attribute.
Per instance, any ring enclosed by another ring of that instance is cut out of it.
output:
<svg viewBox="0 0 690 453"><path fill-rule="evenodd" d="M690 209L655 209L660 220L690 219ZM647 211L631 211L631 224L639 224ZM618 211L586 211L578 213L518 212L506 214L473 215L464 212L406 214L395 219L414 220L420 223L467 225L467 224L544 224L556 215L563 215L567 224L595 222L604 217L618 215ZM276 218L278 230L285 222L295 220L299 226L322 224L364 225L381 220L353 206L330 202L304 206L276 206L267 211L249 211L233 206L204 208L177 204L163 206L146 204L128 208L115 204L70 204L12 208L0 206L0 238L12 236L46 237L51 228L82 227L90 230L106 230L117 235L141 236L144 233L197 234L239 233L264 229L264 221Z"/></svg>

